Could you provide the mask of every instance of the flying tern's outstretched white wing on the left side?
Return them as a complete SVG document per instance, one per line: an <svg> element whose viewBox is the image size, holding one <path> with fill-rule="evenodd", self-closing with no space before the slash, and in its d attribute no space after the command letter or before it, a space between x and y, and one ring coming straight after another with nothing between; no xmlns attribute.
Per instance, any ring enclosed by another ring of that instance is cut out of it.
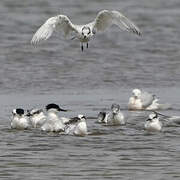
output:
<svg viewBox="0 0 180 180"><path fill-rule="evenodd" d="M36 45L41 41L45 41L51 37L54 31L64 31L67 36L71 31L75 31L76 27L71 23L69 18L65 15L58 15L49 18L34 34L31 43Z"/></svg>

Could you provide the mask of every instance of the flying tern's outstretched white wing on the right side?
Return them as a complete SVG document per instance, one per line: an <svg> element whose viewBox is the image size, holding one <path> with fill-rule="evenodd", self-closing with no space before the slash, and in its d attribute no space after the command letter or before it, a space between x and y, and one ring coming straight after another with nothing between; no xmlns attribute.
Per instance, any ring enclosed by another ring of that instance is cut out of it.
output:
<svg viewBox="0 0 180 180"><path fill-rule="evenodd" d="M95 20L92 22L93 29L95 29L96 31L104 31L113 24L117 25L124 31L141 35L139 28L118 11L100 11Z"/></svg>

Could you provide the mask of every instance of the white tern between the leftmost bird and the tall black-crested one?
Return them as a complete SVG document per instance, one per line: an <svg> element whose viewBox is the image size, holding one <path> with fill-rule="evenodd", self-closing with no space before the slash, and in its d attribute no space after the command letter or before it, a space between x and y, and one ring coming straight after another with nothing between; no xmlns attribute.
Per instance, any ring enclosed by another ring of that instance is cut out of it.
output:
<svg viewBox="0 0 180 180"><path fill-rule="evenodd" d="M27 115L30 117L31 124L34 128L41 127L46 121L46 116L42 109L28 110Z"/></svg>

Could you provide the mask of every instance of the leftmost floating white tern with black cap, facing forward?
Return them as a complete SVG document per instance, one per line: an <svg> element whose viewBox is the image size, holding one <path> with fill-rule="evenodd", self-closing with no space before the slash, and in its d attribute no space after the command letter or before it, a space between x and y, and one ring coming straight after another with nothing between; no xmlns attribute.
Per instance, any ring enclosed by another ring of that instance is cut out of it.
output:
<svg viewBox="0 0 180 180"><path fill-rule="evenodd" d="M24 130L30 128L29 118L25 116L24 109L17 108L12 111L11 128Z"/></svg>

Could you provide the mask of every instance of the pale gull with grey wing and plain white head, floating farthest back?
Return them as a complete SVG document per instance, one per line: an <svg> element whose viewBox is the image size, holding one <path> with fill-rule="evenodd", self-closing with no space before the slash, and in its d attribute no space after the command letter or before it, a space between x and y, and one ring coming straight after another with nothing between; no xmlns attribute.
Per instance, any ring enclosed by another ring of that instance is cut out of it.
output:
<svg viewBox="0 0 180 180"><path fill-rule="evenodd" d="M155 95L142 92L140 89L133 89L132 97L129 98L129 110L155 110L158 108L158 99Z"/></svg>

